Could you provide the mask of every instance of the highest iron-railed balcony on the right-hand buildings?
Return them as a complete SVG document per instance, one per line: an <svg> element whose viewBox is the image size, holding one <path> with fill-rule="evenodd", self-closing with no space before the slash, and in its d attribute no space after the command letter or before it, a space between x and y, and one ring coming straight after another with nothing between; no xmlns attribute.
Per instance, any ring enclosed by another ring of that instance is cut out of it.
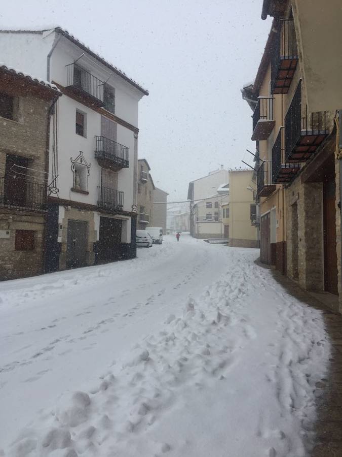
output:
<svg viewBox="0 0 342 457"><path fill-rule="evenodd" d="M287 93L297 67L298 52L293 19L278 24L271 55L271 91Z"/></svg>

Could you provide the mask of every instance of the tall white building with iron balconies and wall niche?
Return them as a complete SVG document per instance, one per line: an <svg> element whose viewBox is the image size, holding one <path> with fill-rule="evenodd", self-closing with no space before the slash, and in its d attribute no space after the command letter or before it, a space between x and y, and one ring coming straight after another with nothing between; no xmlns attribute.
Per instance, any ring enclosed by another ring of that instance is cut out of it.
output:
<svg viewBox="0 0 342 457"><path fill-rule="evenodd" d="M148 92L67 31L0 31L12 67L54 82L46 270L136 255L138 102Z"/></svg>

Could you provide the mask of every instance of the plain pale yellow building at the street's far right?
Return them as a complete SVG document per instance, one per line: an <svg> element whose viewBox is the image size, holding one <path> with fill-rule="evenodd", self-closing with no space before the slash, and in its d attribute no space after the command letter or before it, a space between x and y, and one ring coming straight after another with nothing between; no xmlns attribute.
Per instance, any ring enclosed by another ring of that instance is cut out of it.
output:
<svg viewBox="0 0 342 457"><path fill-rule="evenodd" d="M230 170L229 202L222 203L224 238L235 247L259 247L252 170Z"/></svg>

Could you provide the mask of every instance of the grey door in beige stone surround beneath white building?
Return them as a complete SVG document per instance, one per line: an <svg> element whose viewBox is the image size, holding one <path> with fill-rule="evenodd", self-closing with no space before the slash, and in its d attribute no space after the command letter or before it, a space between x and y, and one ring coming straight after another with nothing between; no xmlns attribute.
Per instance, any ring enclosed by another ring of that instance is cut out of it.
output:
<svg viewBox="0 0 342 457"><path fill-rule="evenodd" d="M78 268L86 265L88 222L68 220L66 267Z"/></svg>

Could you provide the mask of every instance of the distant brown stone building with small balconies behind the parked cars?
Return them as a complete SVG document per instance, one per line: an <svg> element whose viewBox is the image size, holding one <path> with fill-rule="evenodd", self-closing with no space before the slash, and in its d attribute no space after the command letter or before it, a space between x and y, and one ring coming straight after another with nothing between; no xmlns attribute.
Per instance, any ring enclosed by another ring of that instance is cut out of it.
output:
<svg viewBox="0 0 342 457"><path fill-rule="evenodd" d="M153 226L154 191L156 187L150 175L146 159L138 160L138 228L144 230L147 225Z"/></svg>

